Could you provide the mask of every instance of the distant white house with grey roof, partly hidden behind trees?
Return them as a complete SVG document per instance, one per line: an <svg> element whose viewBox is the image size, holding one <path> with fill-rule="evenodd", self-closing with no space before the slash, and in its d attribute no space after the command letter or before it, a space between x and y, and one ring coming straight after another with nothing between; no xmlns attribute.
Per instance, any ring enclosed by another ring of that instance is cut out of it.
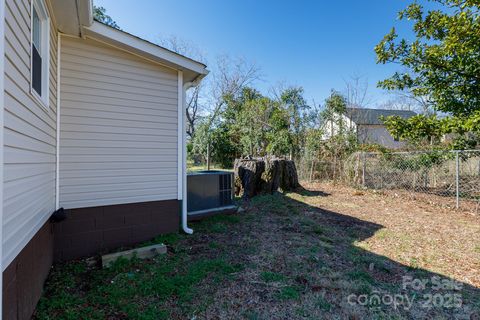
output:
<svg viewBox="0 0 480 320"><path fill-rule="evenodd" d="M407 110L347 108L345 114L334 115L334 119L325 124L323 138L328 139L338 134L342 128L353 132L359 143L379 144L398 149L405 145L404 142L392 137L381 121L381 117L400 116L408 119L415 115L415 112Z"/></svg>

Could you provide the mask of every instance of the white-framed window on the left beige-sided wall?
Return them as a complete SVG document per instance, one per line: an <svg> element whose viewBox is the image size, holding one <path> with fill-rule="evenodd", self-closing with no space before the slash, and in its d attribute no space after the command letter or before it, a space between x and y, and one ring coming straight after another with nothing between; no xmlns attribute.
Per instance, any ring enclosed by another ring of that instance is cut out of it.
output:
<svg viewBox="0 0 480 320"><path fill-rule="evenodd" d="M32 0L31 92L48 107L50 23L44 0Z"/></svg>

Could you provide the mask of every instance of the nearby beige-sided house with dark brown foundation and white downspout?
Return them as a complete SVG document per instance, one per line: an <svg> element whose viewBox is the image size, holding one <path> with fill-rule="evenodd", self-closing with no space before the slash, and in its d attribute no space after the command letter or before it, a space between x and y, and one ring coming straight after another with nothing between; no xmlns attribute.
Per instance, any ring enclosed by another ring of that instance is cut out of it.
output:
<svg viewBox="0 0 480 320"><path fill-rule="evenodd" d="M206 66L92 11L0 0L3 319L30 318L54 260L189 231L184 95Z"/></svg>

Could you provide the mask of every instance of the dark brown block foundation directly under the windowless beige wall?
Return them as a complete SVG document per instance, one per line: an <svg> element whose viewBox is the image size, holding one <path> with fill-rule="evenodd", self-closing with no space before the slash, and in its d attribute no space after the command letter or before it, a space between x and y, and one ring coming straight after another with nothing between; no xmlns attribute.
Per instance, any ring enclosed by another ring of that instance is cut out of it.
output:
<svg viewBox="0 0 480 320"><path fill-rule="evenodd" d="M177 232L180 225L178 200L70 209L66 213L67 219L54 226L55 262L135 245L159 234Z"/></svg>

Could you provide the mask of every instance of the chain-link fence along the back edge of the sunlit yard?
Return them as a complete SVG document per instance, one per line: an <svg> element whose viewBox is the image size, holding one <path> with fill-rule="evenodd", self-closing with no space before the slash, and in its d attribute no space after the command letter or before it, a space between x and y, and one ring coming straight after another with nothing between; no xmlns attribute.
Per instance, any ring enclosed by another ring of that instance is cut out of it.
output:
<svg viewBox="0 0 480 320"><path fill-rule="evenodd" d="M409 192L480 212L480 150L371 153L338 161L300 159L302 180L334 180L373 190Z"/></svg>

